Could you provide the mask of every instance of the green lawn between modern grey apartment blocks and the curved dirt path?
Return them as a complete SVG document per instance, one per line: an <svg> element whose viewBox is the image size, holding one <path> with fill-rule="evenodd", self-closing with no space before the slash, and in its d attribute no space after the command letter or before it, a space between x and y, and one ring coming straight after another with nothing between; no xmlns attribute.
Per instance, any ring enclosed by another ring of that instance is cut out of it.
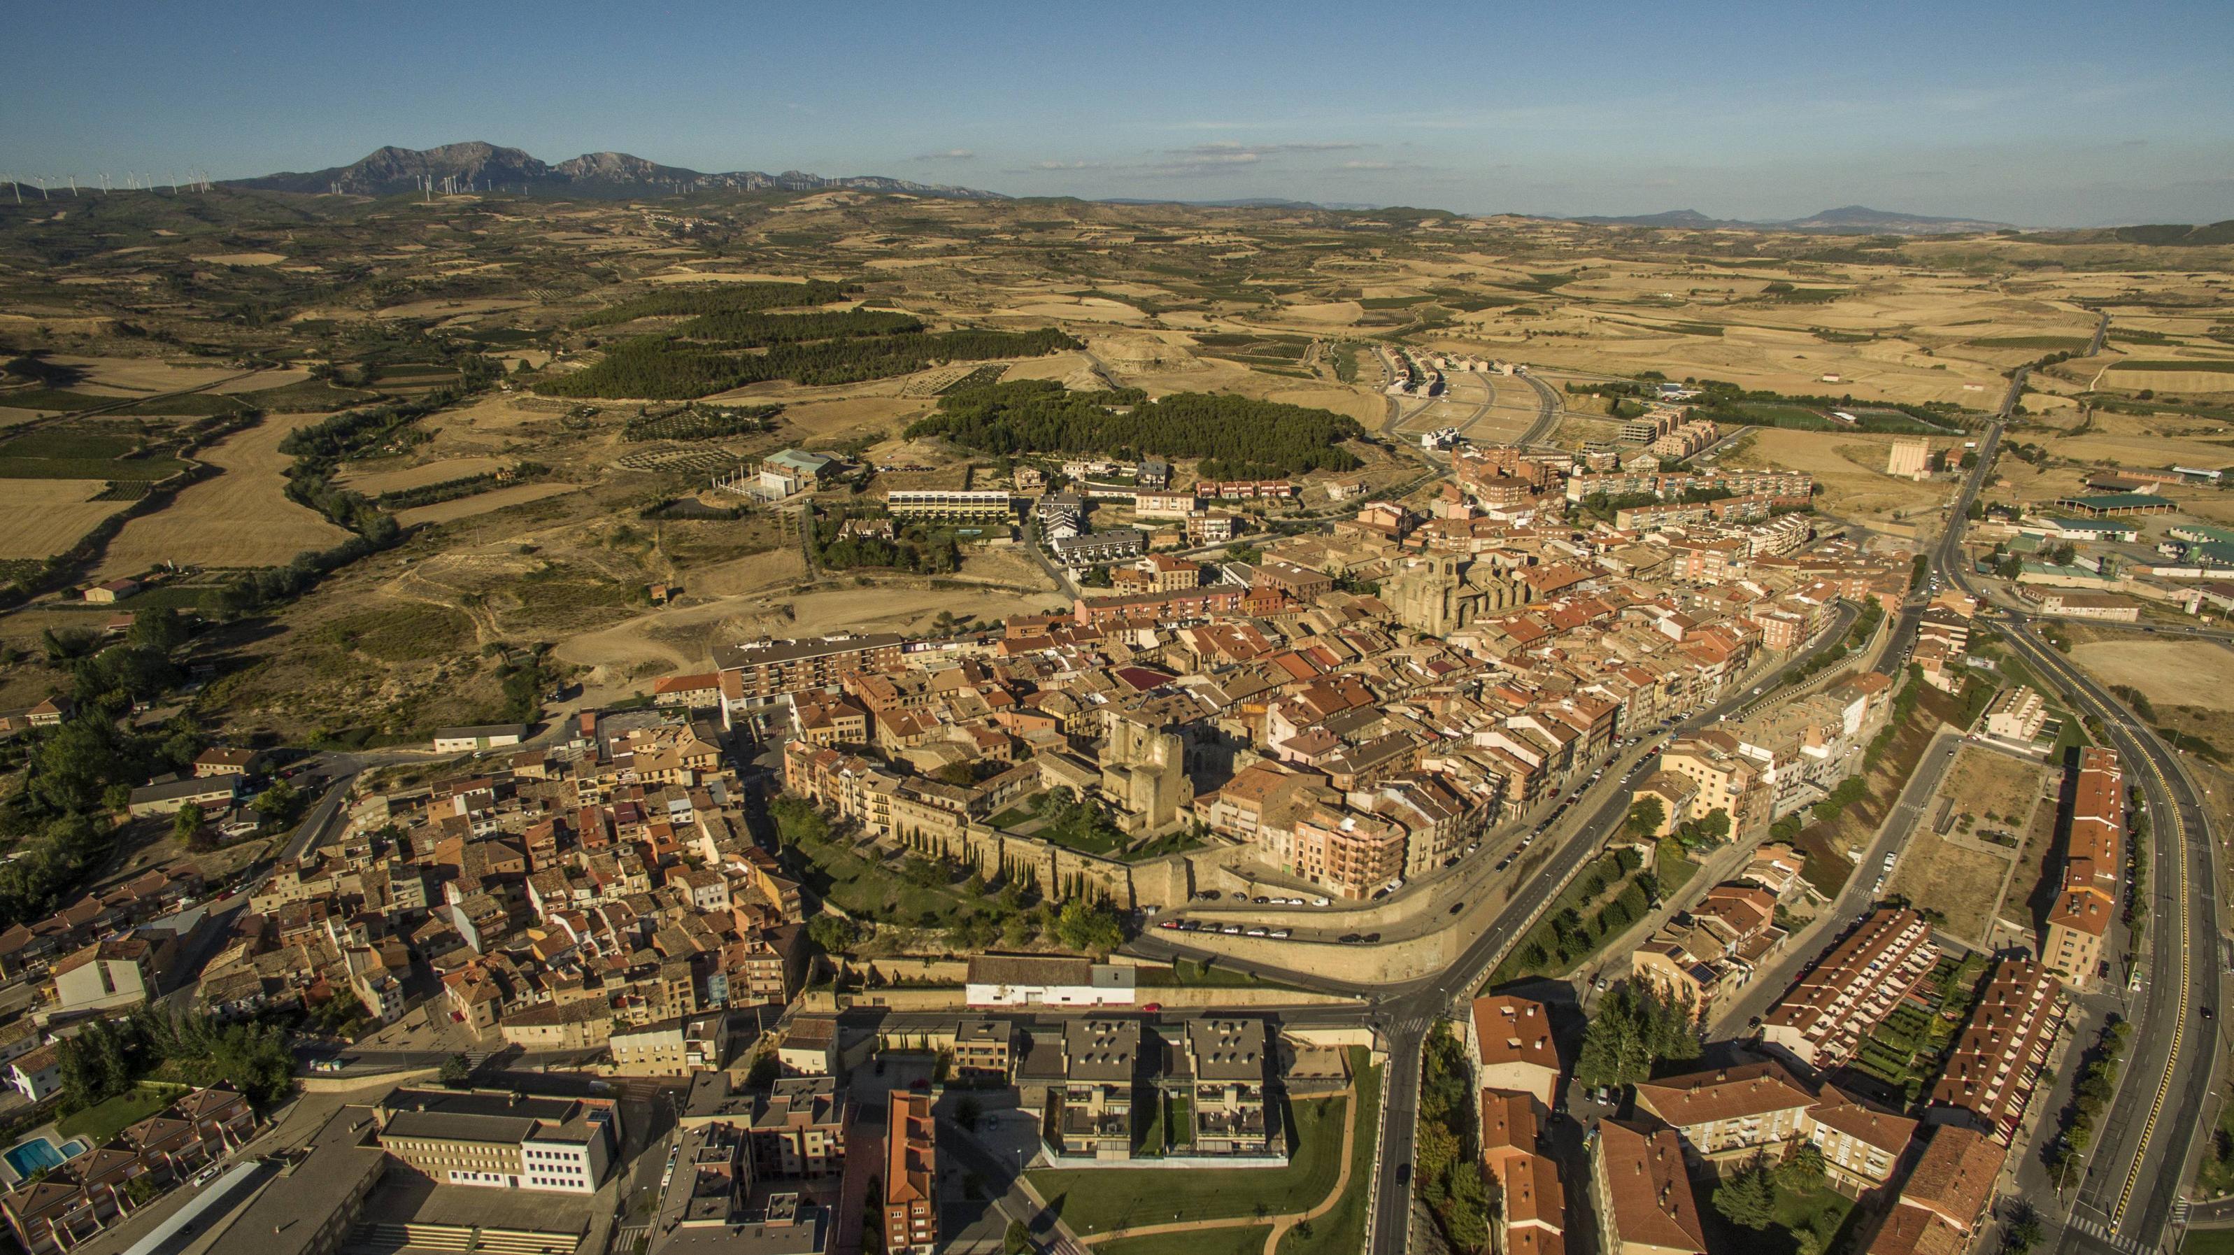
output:
<svg viewBox="0 0 2234 1255"><path fill-rule="evenodd" d="M1340 1175L1343 1117L1347 1099L1307 1099L1289 1103L1287 1168L1204 1168L1177 1172L1171 1168L1048 1168L1030 1172L1032 1188L1063 1222L1081 1235L1108 1233L1142 1224L1175 1219L1231 1219L1309 1210ZM1361 1130L1372 1148L1372 1130ZM1258 1235L1262 1251L1262 1235ZM1195 1248L1188 1248L1195 1251Z"/></svg>

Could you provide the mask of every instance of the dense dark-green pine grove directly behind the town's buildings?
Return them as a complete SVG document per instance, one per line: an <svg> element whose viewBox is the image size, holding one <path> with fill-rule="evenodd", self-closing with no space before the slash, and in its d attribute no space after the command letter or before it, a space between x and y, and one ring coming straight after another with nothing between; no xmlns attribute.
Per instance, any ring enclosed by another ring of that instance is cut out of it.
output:
<svg viewBox="0 0 2234 1255"><path fill-rule="evenodd" d="M1016 380L941 397L907 435L945 435L987 453L1110 453L1206 458L1231 478L1352 471L1343 440L1365 435L1354 418L1238 395L1139 389L1072 393L1054 380Z"/></svg>

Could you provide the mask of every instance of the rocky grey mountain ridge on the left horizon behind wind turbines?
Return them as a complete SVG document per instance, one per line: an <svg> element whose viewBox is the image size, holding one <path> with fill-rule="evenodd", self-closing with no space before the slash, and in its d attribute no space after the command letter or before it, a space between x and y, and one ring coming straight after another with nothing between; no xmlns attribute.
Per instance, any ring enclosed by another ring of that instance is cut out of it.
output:
<svg viewBox="0 0 2234 1255"><path fill-rule="evenodd" d="M232 188L261 188L266 192L342 192L349 197L393 197L418 192L422 181L442 183L456 179L460 190L485 188L523 194L565 197L652 197L677 192L907 192L914 197L949 197L963 201L1005 201L999 192L976 188L947 188L938 183L909 183L885 179L882 174L860 174L849 179L824 179L800 170L762 174L760 170L731 170L706 174L681 165L659 165L626 152L585 152L576 159L547 165L518 147L494 143L445 143L440 147L382 147L349 165L326 170L279 172L261 179L230 179Z"/></svg>

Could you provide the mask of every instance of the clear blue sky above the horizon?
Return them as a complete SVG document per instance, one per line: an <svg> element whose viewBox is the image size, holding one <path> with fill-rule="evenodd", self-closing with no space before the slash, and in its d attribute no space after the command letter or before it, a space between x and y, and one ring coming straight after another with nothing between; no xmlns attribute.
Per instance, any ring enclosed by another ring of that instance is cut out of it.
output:
<svg viewBox="0 0 2234 1255"><path fill-rule="evenodd" d="M11 36L22 179L485 138L1010 194L2234 217L2227 0L80 2Z"/></svg>

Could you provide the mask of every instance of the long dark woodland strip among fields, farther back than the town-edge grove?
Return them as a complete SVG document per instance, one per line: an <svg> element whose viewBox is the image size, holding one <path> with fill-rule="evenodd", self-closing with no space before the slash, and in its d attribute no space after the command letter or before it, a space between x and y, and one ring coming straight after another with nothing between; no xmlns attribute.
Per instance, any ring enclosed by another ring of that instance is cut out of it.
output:
<svg viewBox="0 0 2234 1255"><path fill-rule="evenodd" d="M941 362L1039 357L1079 342L1041 330L905 330L809 344L775 344L766 353L724 353L672 337L643 335L605 351L594 366L556 375L536 391L558 397L690 400L766 380L827 386L911 375Z"/></svg>

